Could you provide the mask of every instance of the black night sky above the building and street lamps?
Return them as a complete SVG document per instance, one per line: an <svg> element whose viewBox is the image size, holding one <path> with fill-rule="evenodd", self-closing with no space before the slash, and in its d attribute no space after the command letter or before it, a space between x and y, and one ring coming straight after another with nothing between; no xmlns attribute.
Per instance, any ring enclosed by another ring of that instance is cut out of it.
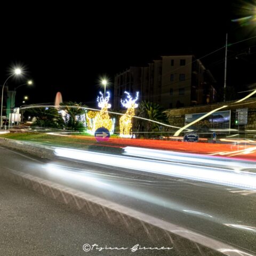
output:
<svg viewBox="0 0 256 256"><path fill-rule="evenodd" d="M92 106L104 75L113 89L114 75L130 66L145 66L169 54L201 58L225 45L226 32L231 43L256 35L255 24L231 22L251 15L253 1L38 3L2 8L0 83L13 64L25 67L26 77L9 81L9 90L30 77L35 83L31 89L17 90L17 102L25 94L28 103L53 102L60 91L65 101ZM246 54L253 45L255 38L229 47L229 85L253 80L248 70L253 70L255 61L253 54ZM235 59L237 54L242 59ZM224 56L222 49L202 59L219 84Z"/></svg>

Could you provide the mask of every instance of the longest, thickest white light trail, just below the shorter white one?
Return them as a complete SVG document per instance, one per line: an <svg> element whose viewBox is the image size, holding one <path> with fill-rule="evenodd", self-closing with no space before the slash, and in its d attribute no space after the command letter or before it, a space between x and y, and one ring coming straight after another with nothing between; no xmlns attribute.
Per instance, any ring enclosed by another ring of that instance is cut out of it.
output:
<svg viewBox="0 0 256 256"><path fill-rule="evenodd" d="M90 151L55 148L55 155L155 174L199 180L219 185L256 189L256 175L195 164L180 164Z"/></svg>

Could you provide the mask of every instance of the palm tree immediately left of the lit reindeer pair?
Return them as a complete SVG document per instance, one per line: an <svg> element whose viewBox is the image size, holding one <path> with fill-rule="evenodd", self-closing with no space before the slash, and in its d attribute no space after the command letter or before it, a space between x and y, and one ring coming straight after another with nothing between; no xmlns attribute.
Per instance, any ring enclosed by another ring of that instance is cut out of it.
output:
<svg viewBox="0 0 256 256"><path fill-rule="evenodd" d="M65 111L63 115L65 127L68 130L83 130L85 119L85 105L72 101L60 103L60 109Z"/></svg>

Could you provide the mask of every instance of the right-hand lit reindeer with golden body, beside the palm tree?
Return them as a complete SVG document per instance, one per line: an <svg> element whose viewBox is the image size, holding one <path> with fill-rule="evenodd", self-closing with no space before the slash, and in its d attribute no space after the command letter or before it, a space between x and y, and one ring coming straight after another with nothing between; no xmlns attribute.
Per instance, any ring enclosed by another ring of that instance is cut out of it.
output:
<svg viewBox="0 0 256 256"><path fill-rule="evenodd" d="M132 138L132 117L135 115L134 108L138 107L135 103L139 99L139 92L136 93L136 98L133 100L129 92L124 92L127 94L125 101L121 99L123 107L127 108L126 113L120 118L120 137L122 138Z"/></svg>

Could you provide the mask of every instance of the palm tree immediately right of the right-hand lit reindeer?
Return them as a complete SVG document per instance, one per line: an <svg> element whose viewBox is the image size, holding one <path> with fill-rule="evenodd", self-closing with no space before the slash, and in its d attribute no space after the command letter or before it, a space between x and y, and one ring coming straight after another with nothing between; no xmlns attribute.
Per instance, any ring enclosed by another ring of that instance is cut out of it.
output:
<svg viewBox="0 0 256 256"><path fill-rule="evenodd" d="M141 101L139 107L137 109L137 116L142 118L147 118L152 121L166 123L167 118L165 113L163 113L163 108L154 102ZM147 120L142 120L139 118L135 118L136 121L135 127L137 127L137 131L142 132L154 132L159 131L159 127L161 125L150 122Z"/></svg>

